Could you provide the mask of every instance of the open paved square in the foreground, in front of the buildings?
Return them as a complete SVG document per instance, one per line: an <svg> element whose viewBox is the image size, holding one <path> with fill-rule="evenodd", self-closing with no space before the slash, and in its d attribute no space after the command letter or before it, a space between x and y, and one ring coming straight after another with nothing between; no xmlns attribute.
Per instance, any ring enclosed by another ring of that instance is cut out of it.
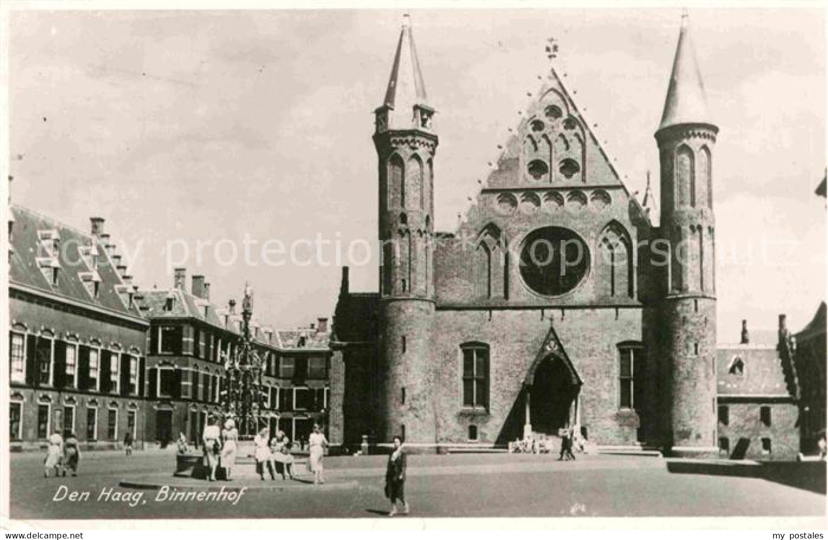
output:
<svg viewBox="0 0 828 540"><path fill-rule="evenodd" d="M579 457L559 462L548 455L410 456L406 491L412 516L825 515L824 463ZM388 511L384 456L326 458L327 481L319 487L309 483L301 466L294 481L248 476L207 483L174 478L174 462L173 454L161 451L131 457L88 452L77 477L46 479L42 456L12 455L12 518L377 518ZM157 500L158 489L122 485L165 482L167 494L193 489L205 494L201 500L173 502L171 497ZM65 498L55 501L59 489ZM221 500L207 497L216 491L223 494ZM88 500L71 501L72 492L79 499L89 493Z"/></svg>

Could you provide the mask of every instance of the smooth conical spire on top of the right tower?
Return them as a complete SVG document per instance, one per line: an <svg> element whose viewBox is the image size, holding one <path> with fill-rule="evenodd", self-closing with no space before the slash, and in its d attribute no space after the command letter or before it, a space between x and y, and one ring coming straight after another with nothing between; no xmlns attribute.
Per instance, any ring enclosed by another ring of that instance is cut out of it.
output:
<svg viewBox="0 0 828 540"><path fill-rule="evenodd" d="M696 51L691 40L689 20L687 13L682 13L681 32L678 36L670 87L667 89L659 130L681 123L711 123L710 113L707 111L705 86L701 83Z"/></svg>

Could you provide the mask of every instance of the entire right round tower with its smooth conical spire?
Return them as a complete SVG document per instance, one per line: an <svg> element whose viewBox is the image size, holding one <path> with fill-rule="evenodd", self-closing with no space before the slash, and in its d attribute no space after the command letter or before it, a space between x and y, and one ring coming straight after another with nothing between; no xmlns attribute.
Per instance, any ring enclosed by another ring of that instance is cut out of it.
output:
<svg viewBox="0 0 828 540"><path fill-rule="evenodd" d="M712 157L718 133L710 121L685 13L655 133L661 162L661 238L670 246L660 306L665 443L681 456L717 451Z"/></svg>

